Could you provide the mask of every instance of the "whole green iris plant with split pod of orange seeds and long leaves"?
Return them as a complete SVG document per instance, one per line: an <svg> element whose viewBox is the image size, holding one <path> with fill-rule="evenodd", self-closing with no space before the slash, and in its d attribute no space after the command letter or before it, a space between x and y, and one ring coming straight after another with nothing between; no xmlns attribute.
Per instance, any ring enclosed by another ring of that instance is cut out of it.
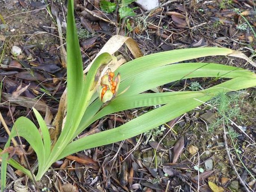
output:
<svg viewBox="0 0 256 192"><path fill-rule="evenodd" d="M112 56L123 43L126 43L136 58L124 64L122 59L118 60L117 57ZM68 1L67 95L64 93L62 96L56 117L58 123L55 125L56 128L62 129L61 134L52 143L46 123L36 109L33 111L39 129L28 118L18 118L4 149L10 146L11 138L24 137L36 152L37 164L31 170L37 170L37 173L32 173L17 161L8 158L8 150L5 150L1 153L2 191L6 186L7 162L28 177L32 178L32 174L35 174L35 179L40 180L55 161L67 155L137 136L196 108L220 92L256 86L255 73L242 68L215 63L178 63L215 55L244 58L255 65L243 53L219 47L172 50L142 56L131 38L115 35L102 47L96 58L85 69L86 75L84 75L75 28L73 1ZM163 84L199 77L225 78L226 81L200 91L144 93ZM105 96L107 92L109 95ZM67 101L66 114L65 101ZM76 139L90 124L108 114L153 105L161 105L161 107L141 114L119 127Z"/></svg>

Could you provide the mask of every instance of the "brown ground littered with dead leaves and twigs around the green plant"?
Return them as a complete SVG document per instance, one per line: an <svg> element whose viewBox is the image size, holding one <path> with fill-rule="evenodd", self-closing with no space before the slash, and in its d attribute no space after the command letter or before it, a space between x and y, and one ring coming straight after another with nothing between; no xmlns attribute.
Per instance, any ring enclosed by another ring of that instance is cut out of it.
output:
<svg viewBox="0 0 256 192"><path fill-rule="evenodd" d="M161 3L162 7L152 12L138 8L136 16L120 20L116 11L104 13L96 0L89 3L76 0L75 17L84 66L115 34L134 38L146 55L203 46L228 47L243 51L249 57L255 54L255 1L196 3L174 0ZM100 19L84 12L84 7L95 11ZM3 17L0 20L0 110L3 119L9 128L13 119L20 116L34 121L31 113L34 106L43 116L47 114L47 124L51 128L66 86L61 51L61 46L65 45L60 43L61 34L58 33L59 23L65 44L66 2L1 0L0 14ZM20 47L22 54L13 56L13 46ZM121 49L120 53L130 59L126 49ZM242 59L215 57L198 61L255 70ZM180 81L173 89L192 89L189 87L193 87L193 81L201 86L194 85L195 89L203 89L208 79ZM29 86L19 91L21 84ZM220 95L209 102L215 108L202 105L141 137L74 154L72 157L78 157L77 161L65 158L56 162L37 187L44 191L65 192L256 191L256 92L255 88L244 92L248 94ZM143 110L138 110L138 115ZM90 129L112 128L134 114L135 111L125 111L118 113L118 118L110 115ZM227 119L224 134L223 120ZM174 131L170 131L168 125L173 126ZM0 147L3 149L7 133L2 127L1 124ZM22 143L28 150L25 140ZM155 148L157 158L154 158ZM32 165L36 155L27 156ZM22 161L18 155L13 158ZM8 190L36 191L30 180L14 171L8 168Z"/></svg>

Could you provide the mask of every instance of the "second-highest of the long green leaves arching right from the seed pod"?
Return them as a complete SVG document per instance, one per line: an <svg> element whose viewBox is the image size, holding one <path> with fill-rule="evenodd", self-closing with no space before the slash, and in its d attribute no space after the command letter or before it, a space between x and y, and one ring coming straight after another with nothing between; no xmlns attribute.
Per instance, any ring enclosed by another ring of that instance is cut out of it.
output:
<svg viewBox="0 0 256 192"><path fill-rule="evenodd" d="M242 68L212 64L212 63L184 63L160 66L139 73L136 77L129 77L120 84L120 92L127 89L126 95L141 93L163 84L197 77L252 77L253 72Z"/></svg>

